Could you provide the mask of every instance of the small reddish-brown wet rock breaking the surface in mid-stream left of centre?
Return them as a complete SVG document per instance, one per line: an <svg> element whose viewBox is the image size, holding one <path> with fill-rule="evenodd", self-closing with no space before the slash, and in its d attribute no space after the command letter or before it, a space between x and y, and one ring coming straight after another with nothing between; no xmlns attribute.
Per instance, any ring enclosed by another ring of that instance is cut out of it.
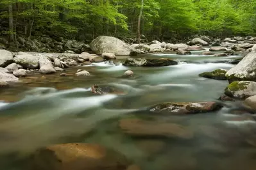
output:
<svg viewBox="0 0 256 170"><path fill-rule="evenodd" d="M115 86L109 86L109 85L94 84L91 87L91 91L92 93L98 94L98 95L107 95L107 94L126 95L127 94L125 91L123 91L123 89L119 89Z"/></svg>

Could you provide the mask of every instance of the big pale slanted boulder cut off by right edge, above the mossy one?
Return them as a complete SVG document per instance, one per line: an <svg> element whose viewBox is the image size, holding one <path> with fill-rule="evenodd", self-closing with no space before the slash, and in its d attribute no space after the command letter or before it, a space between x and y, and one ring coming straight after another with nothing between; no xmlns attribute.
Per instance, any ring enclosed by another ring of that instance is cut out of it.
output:
<svg viewBox="0 0 256 170"><path fill-rule="evenodd" d="M228 81L256 80L256 50L247 54L236 66L226 72Z"/></svg>

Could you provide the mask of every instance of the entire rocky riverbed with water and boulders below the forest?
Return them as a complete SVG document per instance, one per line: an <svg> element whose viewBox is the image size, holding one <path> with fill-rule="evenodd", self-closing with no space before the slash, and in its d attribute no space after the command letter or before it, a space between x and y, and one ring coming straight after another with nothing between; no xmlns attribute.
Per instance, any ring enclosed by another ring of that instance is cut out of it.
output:
<svg viewBox="0 0 256 170"><path fill-rule="evenodd" d="M253 42L0 50L0 167L255 169Z"/></svg>

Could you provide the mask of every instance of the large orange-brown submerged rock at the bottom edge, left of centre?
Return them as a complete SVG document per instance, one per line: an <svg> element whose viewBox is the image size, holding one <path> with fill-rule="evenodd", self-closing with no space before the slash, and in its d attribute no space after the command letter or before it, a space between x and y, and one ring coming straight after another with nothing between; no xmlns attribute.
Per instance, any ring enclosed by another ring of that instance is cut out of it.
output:
<svg viewBox="0 0 256 170"><path fill-rule="evenodd" d="M46 164L47 162L47 164ZM126 170L130 161L99 144L56 144L41 148L30 158L30 170Z"/></svg>

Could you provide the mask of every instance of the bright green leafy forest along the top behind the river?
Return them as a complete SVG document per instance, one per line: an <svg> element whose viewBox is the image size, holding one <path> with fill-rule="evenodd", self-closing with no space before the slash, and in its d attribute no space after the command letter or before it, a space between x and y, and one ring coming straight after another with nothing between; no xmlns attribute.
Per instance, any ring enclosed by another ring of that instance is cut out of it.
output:
<svg viewBox="0 0 256 170"><path fill-rule="evenodd" d="M1 0L0 33L89 42L99 35L171 40L255 35L255 0Z"/></svg>

